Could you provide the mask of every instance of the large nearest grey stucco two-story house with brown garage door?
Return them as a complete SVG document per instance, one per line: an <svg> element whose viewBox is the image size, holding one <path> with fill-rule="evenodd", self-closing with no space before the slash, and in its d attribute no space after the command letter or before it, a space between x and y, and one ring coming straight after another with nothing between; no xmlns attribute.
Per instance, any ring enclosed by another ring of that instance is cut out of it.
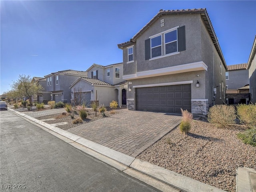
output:
<svg viewBox="0 0 256 192"><path fill-rule="evenodd" d="M118 48L128 109L207 114L225 102L227 66L206 9L160 10Z"/></svg>

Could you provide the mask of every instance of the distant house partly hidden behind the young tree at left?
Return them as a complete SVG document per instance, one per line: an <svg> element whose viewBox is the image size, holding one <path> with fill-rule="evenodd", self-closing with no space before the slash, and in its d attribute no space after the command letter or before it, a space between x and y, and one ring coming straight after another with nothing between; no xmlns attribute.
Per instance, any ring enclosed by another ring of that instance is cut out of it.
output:
<svg viewBox="0 0 256 192"><path fill-rule="evenodd" d="M47 102L49 100L51 100L51 92L46 91L47 90L47 88L46 88L47 87L46 78L44 78L44 77L33 77L32 82L36 82L38 85L40 84L44 88L41 92L35 94L32 97L32 101L47 104Z"/></svg>

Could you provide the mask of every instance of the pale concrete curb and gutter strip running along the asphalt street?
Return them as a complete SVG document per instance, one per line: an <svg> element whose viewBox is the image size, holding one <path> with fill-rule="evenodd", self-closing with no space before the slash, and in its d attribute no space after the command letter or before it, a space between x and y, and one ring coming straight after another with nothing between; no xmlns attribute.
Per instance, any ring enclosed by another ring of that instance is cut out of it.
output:
<svg viewBox="0 0 256 192"><path fill-rule="evenodd" d="M44 130L58 138L61 138L72 146L114 166L119 170L122 170L126 174L154 186L159 190L166 192L224 192L224 190L219 188L204 184L186 176L182 176L181 174L177 174L148 162L144 162L106 146L102 146L85 139L82 136L72 134L26 114L16 112L12 109L9 110L32 121L32 123L38 124L38 126L42 126Z"/></svg>

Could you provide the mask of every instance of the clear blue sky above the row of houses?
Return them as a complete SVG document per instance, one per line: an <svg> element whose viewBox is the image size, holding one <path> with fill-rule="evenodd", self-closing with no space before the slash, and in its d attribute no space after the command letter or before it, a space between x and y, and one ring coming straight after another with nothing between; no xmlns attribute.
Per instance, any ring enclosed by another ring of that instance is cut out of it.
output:
<svg viewBox="0 0 256 192"><path fill-rule="evenodd" d="M122 62L117 44L160 9L206 8L227 65L247 63L256 1L0 1L0 94L19 74L44 77Z"/></svg>

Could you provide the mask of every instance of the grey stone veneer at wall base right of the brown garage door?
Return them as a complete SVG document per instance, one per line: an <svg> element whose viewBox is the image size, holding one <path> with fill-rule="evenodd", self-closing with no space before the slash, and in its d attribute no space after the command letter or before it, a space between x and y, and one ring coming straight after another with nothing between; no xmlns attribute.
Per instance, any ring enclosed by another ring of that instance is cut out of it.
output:
<svg viewBox="0 0 256 192"><path fill-rule="evenodd" d="M191 100L191 113L207 115L209 110L208 100Z"/></svg>

